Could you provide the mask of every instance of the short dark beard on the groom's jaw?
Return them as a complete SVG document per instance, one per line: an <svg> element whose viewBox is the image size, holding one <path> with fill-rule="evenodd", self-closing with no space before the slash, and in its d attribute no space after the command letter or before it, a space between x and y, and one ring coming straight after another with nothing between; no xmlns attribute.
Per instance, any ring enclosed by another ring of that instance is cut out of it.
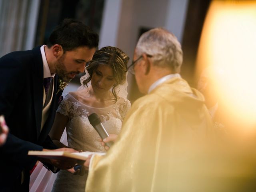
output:
<svg viewBox="0 0 256 192"><path fill-rule="evenodd" d="M79 74L80 72L79 71L68 72L66 70L64 60L65 60L65 55L62 55L57 61L57 64L55 66L55 71L61 80L63 80L64 82L70 82L70 80L72 80L72 77L70 76L72 76L72 74Z"/></svg>

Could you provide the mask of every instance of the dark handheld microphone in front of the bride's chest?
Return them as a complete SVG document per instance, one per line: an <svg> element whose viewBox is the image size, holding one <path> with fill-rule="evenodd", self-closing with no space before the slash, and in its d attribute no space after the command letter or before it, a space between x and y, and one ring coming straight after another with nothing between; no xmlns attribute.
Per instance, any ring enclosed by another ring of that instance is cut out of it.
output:
<svg viewBox="0 0 256 192"><path fill-rule="evenodd" d="M98 134L100 135L100 138L102 138L102 140L109 136L108 132L102 125L102 122L100 122L99 116L96 113L90 114L88 116L88 120L90 121L90 124L92 124L94 129L98 132ZM112 144L113 144L113 142L110 141L110 142L106 143L106 146L108 146L110 148L112 146Z"/></svg>

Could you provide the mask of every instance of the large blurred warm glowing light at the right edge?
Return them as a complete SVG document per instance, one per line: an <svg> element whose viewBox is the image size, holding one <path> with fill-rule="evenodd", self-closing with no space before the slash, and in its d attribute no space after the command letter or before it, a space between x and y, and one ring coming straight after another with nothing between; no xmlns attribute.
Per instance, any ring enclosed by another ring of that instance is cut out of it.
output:
<svg viewBox="0 0 256 192"><path fill-rule="evenodd" d="M198 50L198 74L209 67L230 121L256 127L256 1L212 1Z"/></svg>

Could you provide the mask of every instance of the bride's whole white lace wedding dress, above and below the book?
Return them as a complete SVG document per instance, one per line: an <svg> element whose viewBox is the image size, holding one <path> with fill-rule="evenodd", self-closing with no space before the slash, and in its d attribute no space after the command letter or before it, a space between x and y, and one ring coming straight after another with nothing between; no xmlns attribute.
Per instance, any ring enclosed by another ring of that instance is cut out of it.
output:
<svg viewBox="0 0 256 192"><path fill-rule="evenodd" d="M130 108L130 101L118 98L115 104L104 108L87 106L67 94L61 102L58 112L68 116L66 125L68 146L83 151L105 152L99 142L100 136L90 124L88 116L98 114L101 122L109 134L119 134L123 118ZM54 192L84 192L87 174L84 176L72 175L66 170L60 170L54 182Z"/></svg>

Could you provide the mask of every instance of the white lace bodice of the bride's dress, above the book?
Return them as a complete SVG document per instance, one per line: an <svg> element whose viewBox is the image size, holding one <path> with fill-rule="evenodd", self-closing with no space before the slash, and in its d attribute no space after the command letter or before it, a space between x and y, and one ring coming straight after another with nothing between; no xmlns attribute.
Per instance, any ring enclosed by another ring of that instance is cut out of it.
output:
<svg viewBox="0 0 256 192"><path fill-rule="evenodd" d="M57 111L69 118L66 126L69 147L104 152L98 141L100 136L90 124L88 116L92 113L98 114L109 134L119 134L122 120L129 108L130 101L124 98L118 98L115 104L108 107L95 108L81 103L71 94L66 94Z"/></svg>

